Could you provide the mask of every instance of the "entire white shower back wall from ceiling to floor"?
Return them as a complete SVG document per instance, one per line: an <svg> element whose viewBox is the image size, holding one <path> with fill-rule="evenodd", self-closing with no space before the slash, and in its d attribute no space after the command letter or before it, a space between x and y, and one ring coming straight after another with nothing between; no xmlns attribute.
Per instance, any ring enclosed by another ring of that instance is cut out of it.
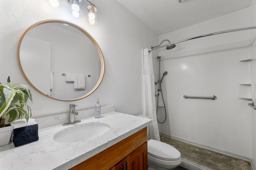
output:
<svg viewBox="0 0 256 170"><path fill-rule="evenodd" d="M249 8L160 35L159 42L255 26L252 16L256 11L255 2L252 0ZM256 71L256 61L251 62L255 65L252 72L249 62L240 62L256 58L256 47L251 46L255 30L214 36L179 43L173 50L159 51L161 74L168 71L162 82L167 120L159 124L159 130L177 139L255 160L256 110L247 105L252 100L240 98L242 93L250 92L250 86L241 90L240 83L256 79L252 74ZM184 99L184 95L215 95L217 100ZM159 107L158 116L163 119L163 107Z"/></svg>

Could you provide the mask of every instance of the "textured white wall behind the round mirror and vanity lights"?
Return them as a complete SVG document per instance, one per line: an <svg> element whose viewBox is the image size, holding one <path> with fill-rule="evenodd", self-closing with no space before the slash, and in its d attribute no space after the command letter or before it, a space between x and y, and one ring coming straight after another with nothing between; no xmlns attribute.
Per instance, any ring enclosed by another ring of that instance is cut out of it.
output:
<svg viewBox="0 0 256 170"><path fill-rule="evenodd" d="M87 4L83 3L83 14L86 14ZM58 9L49 6L46 0L13 0L1 4L1 83L10 75L12 82L27 84L18 68L16 51L24 31L41 20L63 19L80 25L96 39L104 55L105 75L92 95L75 102L61 102L32 89L32 117L67 112L72 103L78 105L77 110L91 108L97 97L103 106L116 104L116 111L132 115L142 113L142 49L157 44L158 35L114 0L94 0L93 3L98 8L97 25L86 23L85 16L72 17L65 0Z"/></svg>

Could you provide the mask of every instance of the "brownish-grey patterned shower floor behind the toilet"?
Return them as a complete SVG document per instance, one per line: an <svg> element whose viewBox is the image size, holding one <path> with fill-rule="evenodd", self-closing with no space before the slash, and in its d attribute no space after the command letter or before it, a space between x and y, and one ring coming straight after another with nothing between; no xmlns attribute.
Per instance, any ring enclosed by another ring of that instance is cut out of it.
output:
<svg viewBox="0 0 256 170"><path fill-rule="evenodd" d="M172 145L178 149L180 151L181 158L185 162L188 161L195 166L205 167L199 169L252 170L252 166L248 161L220 154L212 150L203 149L165 136L161 136L160 139L162 142ZM185 168L194 170L194 168L189 168L189 166L186 166Z"/></svg>

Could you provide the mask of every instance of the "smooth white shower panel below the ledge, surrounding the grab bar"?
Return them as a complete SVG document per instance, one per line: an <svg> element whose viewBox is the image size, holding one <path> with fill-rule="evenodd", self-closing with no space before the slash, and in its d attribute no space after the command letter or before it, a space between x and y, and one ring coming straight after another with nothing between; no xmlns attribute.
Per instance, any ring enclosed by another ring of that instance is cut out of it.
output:
<svg viewBox="0 0 256 170"><path fill-rule="evenodd" d="M252 112L239 99L246 73L240 59L250 47L163 60L162 91L168 117L160 132L252 158ZM217 96L217 100L183 96ZM162 109L162 110L161 110ZM159 119L164 115L159 108Z"/></svg>

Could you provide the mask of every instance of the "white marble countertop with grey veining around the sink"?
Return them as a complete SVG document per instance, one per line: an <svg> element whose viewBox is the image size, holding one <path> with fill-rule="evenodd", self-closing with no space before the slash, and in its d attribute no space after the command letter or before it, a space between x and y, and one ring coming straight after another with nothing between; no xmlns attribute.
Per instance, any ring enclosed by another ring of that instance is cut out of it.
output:
<svg viewBox="0 0 256 170"><path fill-rule="evenodd" d="M102 150L122 141L151 123L151 119L119 112L106 113L101 118L90 117L79 124L102 122L110 130L94 139L74 143L59 143L53 137L59 131L75 125L57 125L39 130L39 140L14 147L13 143L0 147L2 170L68 170ZM82 134L81 134L82 135Z"/></svg>

